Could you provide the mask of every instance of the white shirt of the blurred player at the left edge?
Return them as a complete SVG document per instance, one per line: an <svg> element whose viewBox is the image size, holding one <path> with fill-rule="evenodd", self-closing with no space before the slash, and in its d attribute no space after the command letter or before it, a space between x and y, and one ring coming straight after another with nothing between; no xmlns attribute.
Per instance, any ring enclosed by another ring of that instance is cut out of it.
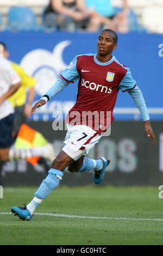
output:
<svg viewBox="0 0 163 256"><path fill-rule="evenodd" d="M7 93L9 87L16 83L21 82L21 78L12 69L9 60L5 59L0 54L0 97ZM7 99L0 105L0 120L7 117L9 114L14 113L10 101Z"/></svg>

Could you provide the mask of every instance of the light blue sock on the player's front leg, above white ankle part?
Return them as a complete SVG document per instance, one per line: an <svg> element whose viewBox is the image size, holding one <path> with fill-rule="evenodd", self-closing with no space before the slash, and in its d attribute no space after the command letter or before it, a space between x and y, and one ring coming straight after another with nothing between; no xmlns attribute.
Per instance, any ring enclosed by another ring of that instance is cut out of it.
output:
<svg viewBox="0 0 163 256"><path fill-rule="evenodd" d="M60 170L49 169L46 179L42 181L39 189L35 192L35 197L45 199L58 186L63 175Z"/></svg>

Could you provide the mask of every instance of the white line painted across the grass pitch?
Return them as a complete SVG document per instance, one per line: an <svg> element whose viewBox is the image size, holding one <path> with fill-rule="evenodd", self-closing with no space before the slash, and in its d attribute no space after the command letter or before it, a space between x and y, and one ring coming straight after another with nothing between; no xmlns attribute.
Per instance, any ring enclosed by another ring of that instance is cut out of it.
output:
<svg viewBox="0 0 163 256"><path fill-rule="evenodd" d="M11 212L0 212L0 215L11 214ZM163 221L162 218L123 218L123 217L96 217L96 216L78 216L67 214L43 214L36 212L34 215L52 216L52 217L65 217L65 218L92 218L99 220L124 220L124 221Z"/></svg>

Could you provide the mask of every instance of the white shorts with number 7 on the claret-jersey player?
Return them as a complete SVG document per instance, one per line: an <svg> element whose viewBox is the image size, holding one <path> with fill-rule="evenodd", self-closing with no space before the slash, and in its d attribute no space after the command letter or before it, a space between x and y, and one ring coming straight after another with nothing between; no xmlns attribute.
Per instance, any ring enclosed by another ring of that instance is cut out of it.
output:
<svg viewBox="0 0 163 256"><path fill-rule="evenodd" d="M98 143L102 137L98 132L86 125L67 125L67 133L62 150L73 160L78 160L81 156L89 153L89 150Z"/></svg>

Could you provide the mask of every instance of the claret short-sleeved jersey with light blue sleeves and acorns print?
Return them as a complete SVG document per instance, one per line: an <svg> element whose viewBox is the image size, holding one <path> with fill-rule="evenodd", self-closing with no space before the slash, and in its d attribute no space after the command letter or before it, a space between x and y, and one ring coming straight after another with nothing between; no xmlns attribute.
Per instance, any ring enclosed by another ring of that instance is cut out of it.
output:
<svg viewBox="0 0 163 256"><path fill-rule="evenodd" d="M80 113L91 111L104 113L104 119L99 122L99 128L106 123L106 112L111 113L111 121L114 120L114 109L119 89L122 92L134 89L136 82L131 76L130 69L124 66L112 56L109 62L102 63L96 58L96 54L83 54L75 57L68 67L61 73L62 80L69 83L78 82L78 94L76 104L70 109L66 121L71 123L71 112ZM76 124L79 122L76 121ZM101 129L94 129L101 132Z"/></svg>

